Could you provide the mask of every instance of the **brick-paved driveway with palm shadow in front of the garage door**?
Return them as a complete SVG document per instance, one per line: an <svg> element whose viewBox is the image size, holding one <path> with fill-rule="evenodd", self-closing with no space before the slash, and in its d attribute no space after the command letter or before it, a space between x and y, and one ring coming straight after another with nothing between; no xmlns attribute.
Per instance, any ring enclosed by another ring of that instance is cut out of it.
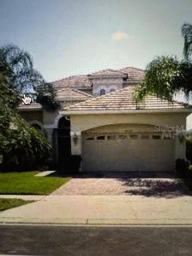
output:
<svg viewBox="0 0 192 256"><path fill-rule="evenodd" d="M168 173L100 172L74 176L52 195L135 195L175 198L188 195L182 180Z"/></svg>

